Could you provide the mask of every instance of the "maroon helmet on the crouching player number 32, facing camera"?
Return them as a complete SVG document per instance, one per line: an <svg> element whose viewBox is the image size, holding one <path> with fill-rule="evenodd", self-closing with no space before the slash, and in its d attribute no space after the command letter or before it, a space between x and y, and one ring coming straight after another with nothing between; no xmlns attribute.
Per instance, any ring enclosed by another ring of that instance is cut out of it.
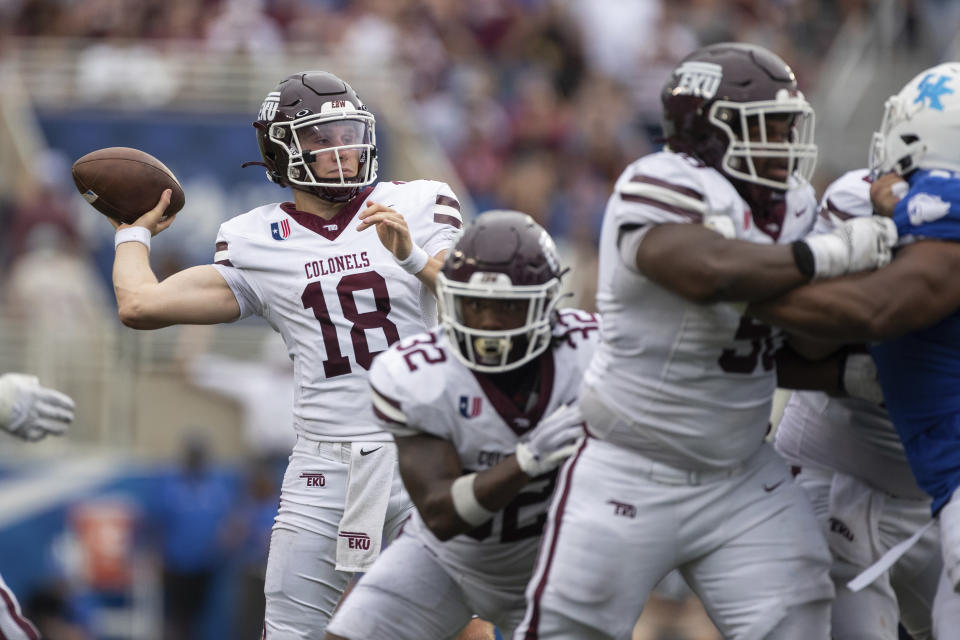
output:
<svg viewBox="0 0 960 640"><path fill-rule="evenodd" d="M533 218L504 210L477 216L437 276L440 323L454 355L475 371L495 373L543 353L550 346L562 275L550 234ZM526 301L526 322L497 331L467 326L468 298Z"/></svg>

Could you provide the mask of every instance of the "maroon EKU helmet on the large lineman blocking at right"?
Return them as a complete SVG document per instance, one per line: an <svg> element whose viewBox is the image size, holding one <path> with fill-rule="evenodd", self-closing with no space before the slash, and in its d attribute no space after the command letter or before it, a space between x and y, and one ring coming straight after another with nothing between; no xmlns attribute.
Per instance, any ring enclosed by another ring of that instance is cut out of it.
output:
<svg viewBox="0 0 960 640"><path fill-rule="evenodd" d="M738 190L749 183L784 191L813 175L813 108L787 63L767 49L733 42L697 49L660 98L669 148L714 167Z"/></svg>

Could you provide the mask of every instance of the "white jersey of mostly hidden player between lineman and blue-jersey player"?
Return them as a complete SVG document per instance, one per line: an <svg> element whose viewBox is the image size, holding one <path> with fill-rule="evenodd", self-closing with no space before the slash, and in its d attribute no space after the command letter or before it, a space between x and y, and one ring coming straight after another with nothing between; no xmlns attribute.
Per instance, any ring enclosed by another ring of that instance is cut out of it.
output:
<svg viewBox="0 0 960 640"><path fill-rule="evenodd" d="M869 170L857 169L827 187L817 233L832 230L838 221L873 215L869 178ZM794 391L777 426L775 445L791 462L835 469L900 497L925 496L886 409L866 400Z"/></svg>

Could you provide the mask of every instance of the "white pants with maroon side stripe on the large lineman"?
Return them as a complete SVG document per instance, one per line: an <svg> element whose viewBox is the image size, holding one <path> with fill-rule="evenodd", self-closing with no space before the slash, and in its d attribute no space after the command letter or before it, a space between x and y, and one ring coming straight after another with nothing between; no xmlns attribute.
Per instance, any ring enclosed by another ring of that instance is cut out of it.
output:
<svg viewBox="0 0 960 640"><path fill-rule="evenodd" d="M674 469L588 438L554 494L516 639L629 639L674 568L731 640L827 640L830 553L772 447Z"/></svg>

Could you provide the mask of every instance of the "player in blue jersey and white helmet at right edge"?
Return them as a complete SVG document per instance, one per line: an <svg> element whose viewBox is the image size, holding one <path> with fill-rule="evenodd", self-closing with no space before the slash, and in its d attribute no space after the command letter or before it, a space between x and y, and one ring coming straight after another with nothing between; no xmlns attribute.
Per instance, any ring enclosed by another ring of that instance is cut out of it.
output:
<svg viewBox="0 0 960 640"><path fill-rule="evenodd" d="M874 209L900 236L889 266L816 283L748 313L814 338L869 340L887 409L939 516L936 637L960 628L960 63L928 69L874 134ZM882 175L881 175L882 174ZM948 632L947 629L952 629ZM938 632L939 630L939 632Z"/></svg>

